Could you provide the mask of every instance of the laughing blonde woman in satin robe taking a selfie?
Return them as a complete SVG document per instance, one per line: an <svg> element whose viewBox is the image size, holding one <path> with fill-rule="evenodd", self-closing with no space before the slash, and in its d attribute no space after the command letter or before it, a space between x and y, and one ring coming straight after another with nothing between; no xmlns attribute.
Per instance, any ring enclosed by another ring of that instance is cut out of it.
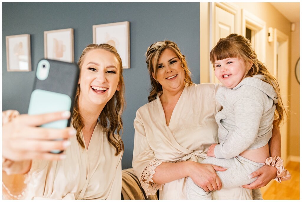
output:
<svg viewBox="0 0 302 202"><path fill-rule="evenodd" d="M108 44L91 44L78 63L79 84L72 126L37 128L46 122L69 118L69 112L45 115L3 113L2 170L26 174L23 196L14 196L3 180L8 198L17 199L120 199L120 138L124 109L122 62ZM114 132L117 131L117 134ZM63 138L62 141L49 141ZM65 150L63 154L49 153Z"/></svg>

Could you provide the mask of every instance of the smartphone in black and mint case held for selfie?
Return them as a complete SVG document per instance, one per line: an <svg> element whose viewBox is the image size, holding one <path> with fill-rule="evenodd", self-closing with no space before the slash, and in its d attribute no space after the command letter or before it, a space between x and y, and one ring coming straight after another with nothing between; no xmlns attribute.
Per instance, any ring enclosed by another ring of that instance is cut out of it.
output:
<svg viewBox="0 0 302 202"><path fill-rule="evenodd" d="M58 111L70 111L72 114L78 81L78 65L49 59L40 60L37 65L28 114L37 115ZM70 125L71 117L68 120L59 120L40 127L63 129Z"/></svg>

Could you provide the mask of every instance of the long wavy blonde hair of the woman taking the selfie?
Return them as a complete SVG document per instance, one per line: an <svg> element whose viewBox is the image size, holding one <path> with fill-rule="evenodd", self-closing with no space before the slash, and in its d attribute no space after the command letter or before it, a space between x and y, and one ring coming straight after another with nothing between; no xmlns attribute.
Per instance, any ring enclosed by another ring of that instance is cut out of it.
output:
<svg viewBox="0 0 302 202"><path fill-rule="evenodd" d="M123 78L123 67L122 67L122 60L120 55L117 53L117 50L106 43L97 45L97 44L90 44L88 45L82 52L81 57L79 58L79 68L82 68L83 61L85 58L86 53L91 50L95 49L104 49L109 51L115 55L118 61L118 67L120 71L120 78L119 78L119 86L120 90L115 91L113 97L108 101L105 105L104 109L102 110L101 114L99 115L100 124L107 132L107 138L111 145L113 145L116 149L115 156L117 156L120 152L124 151L124 143L120 137L120 130L123 131L123 122L121 119L124 106L125 106L125 99L124 99L124 78ZM79 112L79 95L80 95L80 84L78 84L75 103L73 108L73 115L72 115L72 125L76 129L76 137L79 144L85 149L84 142L82 137L80 136L80 132L84 127L83 117ZM117 135L114 135L114 132L117 131Z"/></svg>

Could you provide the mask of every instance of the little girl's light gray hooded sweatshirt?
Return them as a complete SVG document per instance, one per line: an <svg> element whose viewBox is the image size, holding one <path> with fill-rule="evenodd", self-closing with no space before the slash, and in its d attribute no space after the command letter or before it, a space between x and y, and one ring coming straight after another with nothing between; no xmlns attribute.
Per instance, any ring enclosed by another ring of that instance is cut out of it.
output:
<svg viewBox="0 0 302 202"><path fill-rule="evenodd" d="M260 74L247 77L233 89L220 87L217 91L223 109L215 117L220 142L214 149L216 158L233 158L265 146L271 138L278 97L262 78Z"/></svg>

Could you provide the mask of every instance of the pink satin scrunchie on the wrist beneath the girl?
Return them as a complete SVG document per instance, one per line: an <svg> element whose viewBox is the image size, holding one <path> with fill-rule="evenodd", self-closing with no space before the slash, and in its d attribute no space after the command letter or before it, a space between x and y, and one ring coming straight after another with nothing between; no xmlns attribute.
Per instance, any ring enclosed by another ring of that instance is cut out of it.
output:
<svg viewBox="0 0 302 202"><path fill-rule="evenodd" d="M263 166L264 165L274 166L277 168L277 176L275 177L274 180L278 181L279 183L281 183L281 181L291 179L291 174L287 169L284 168L283 159L281 159L280 156L267 158Z"/></svg>

